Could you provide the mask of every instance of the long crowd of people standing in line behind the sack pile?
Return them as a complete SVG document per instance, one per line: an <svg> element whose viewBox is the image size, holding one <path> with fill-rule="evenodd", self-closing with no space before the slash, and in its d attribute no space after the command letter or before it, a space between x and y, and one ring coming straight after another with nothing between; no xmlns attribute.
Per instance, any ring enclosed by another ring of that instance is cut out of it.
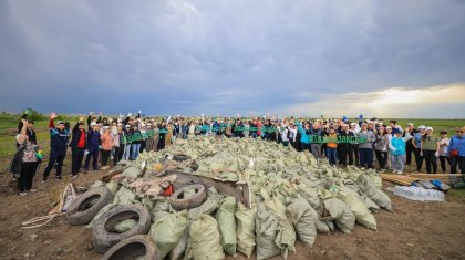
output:
<svg viewBox="0 0 465 260"><path fill-rule="evenodd" d="M62 179L62 167L69 147L71 148L71 175L106 169L111 162L134 160L143 152L156 152L172 145L176 138L195 135L228 138L262 138L269 142L292 146L299 152L308 150L317 159L327 158L333 166L355 165L373 168L378 162L380 170L391 169L403 174L404 166L415 162L421 171L425 164L428 174L441 169L451 174L465 173L465 126L456 129L448 138L446 132L434 134L431 126L412 123L405 127L396 121L388 124L381 119L363 117L350 121L345 116L332 119L302 119L276 117L146 117L140 112L136 116L115 118L95 116L90 113L71 125L50 115L50 155L42 181L48 181L53 168L55 179ZM18 179L18 193L33 193L32 180L41 163L34 123L24 114L19 123L17 135L18 152L11 164L11 171ZM83 167L82 167L83 166Z"/></svg>

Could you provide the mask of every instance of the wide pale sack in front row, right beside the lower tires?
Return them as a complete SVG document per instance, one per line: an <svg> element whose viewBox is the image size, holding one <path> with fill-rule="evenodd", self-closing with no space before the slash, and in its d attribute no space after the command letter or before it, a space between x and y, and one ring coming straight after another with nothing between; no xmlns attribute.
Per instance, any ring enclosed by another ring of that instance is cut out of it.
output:
<svg viewBox="0 0 465 260"><path fill-rule="evenodd" d="M176 247L187 228L187 211L169 214L152 225L149 236L158 248L159 259L164 259Z"/></svg>

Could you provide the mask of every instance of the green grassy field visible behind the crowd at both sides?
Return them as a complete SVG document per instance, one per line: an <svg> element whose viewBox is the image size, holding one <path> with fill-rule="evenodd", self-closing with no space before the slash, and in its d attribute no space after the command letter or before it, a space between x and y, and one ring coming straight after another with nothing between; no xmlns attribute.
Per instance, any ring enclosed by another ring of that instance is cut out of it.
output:
<svg viewBox="0 0 465 260"><path fill-rule="evenodd" d="M16 142L14 135L18 131L18 122L20 115L12 114L0 114L0 163L9 160L16 152ZM61 119L65 119L71 123L73 126L78 118L61 116ZM388 121L384 121L388 123ZM49 132L48 132L48 121L37 121L35 122L35 132L38 135L38 143L40 148L48 155L49 153ZM436 134L441 131L447 131L450 135L454 134L454 131L457 127L465 125L465 119L410 119L410 118L400 118L397 124L405 126L407 123L413 123L415 127L420 125L432 126Z"/></svg>

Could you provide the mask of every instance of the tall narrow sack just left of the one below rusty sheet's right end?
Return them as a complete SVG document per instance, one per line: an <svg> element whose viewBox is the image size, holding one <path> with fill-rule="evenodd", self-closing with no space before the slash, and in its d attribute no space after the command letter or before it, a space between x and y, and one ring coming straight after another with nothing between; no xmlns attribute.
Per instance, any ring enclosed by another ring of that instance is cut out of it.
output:
<svg viewBox="0 0 465 260"><path fill-rule="evenodd" d="M221 235L221 247L229 256L236 256L236 214L237 205L235 197L226 197L216 211L219 233Z"/></svg>

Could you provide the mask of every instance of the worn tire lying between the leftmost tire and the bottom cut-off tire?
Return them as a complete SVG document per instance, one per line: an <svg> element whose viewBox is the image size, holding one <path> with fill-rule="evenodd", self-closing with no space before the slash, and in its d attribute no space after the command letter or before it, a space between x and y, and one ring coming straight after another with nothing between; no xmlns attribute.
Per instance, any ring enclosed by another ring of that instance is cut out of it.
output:
<svg viewBox="0 0 465 260"><path fill-rule="evenodd" d="M137 225L123 233L110 230L120 221L135 218ZM135 235L147 235L151 228L151 212L142 205L116 206L104 212L92 229L92 240L95 251L106 252L110 248L124 239Z"/></svg>

